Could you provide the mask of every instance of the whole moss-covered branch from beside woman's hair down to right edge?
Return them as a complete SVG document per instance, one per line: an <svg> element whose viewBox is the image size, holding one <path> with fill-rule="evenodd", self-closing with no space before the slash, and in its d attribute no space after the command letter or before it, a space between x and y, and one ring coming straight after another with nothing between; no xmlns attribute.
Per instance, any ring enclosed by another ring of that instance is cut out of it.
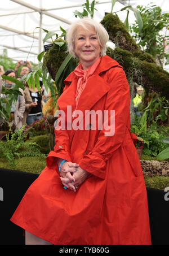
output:
<svg viewBox="0 0 169 256"><path fill-rule="evenodd" d="M114 51L108 49L107 54L123 66L127 78L132 77L147 91L154 90L169 99L169 73L155 63L152 55L140 50L118 16L107 14L101 24L116 46Z"/></svg>

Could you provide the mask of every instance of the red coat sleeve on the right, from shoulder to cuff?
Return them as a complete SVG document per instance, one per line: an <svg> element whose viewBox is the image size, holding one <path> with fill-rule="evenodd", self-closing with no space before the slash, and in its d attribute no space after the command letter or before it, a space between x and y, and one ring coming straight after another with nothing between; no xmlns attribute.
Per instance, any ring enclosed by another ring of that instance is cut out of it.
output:
<svg viewBox="0 0 169 256"><path fill-rule="evenodd" d="M103 128L94 148L90 153L83 155L79 162L81 168L101 179L105 178L106 161L122 145L130 118L130 92L124 71L122 68L116 68L115 72L112 69L106 75L106 81L111 85L105 103L108 119L104 118Z"/></svg>

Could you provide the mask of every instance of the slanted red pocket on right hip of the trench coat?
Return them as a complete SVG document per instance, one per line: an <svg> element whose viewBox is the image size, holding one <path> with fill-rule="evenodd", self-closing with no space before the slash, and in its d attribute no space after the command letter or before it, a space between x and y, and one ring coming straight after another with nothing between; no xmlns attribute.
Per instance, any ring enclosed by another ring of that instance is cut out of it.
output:
<svg viewBox="0 0 169 256"><path fill-rule="evenodd" d="M127 145L122 146L124 149L124 152L126 153L126 157L128 159L128 162L130 163L130 166L132 168L132 171L134 172L135 176L143 175L143 171L141 169L140 159L136 151L136 147L132 141L128 142Z"/></svg>

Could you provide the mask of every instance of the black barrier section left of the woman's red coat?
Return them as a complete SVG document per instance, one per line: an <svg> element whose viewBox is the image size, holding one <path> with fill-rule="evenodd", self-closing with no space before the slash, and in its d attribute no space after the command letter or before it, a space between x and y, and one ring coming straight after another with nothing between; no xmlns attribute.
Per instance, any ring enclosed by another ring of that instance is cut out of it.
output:
<svg viewBox="0 0 169 256"><path fill-rule="evenodd" d="M37 179L38 175L14 170L0 168L0 227L1 227L1 245L23 245L25 237L23 229L10 221L17 205L23 198L30 184ZM3 194L2 194L3 193Z"/></svg>

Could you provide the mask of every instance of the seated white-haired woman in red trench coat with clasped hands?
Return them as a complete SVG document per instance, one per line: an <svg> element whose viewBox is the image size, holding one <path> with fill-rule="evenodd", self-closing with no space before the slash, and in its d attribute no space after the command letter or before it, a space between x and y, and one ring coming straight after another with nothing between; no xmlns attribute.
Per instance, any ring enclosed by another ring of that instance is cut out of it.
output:
<svg viewBox="0 0 169 256"><path fill-rule="evenodd" d="M81 63L65 80L57 101L56 145L11 220L33 238L27 244L151 244L126 76L105 55L108 33L95 20L70 25L67 41L69 53ZM105 116L94 120L86 110ZM115 111L113 129L110 110Z"/></svg>

